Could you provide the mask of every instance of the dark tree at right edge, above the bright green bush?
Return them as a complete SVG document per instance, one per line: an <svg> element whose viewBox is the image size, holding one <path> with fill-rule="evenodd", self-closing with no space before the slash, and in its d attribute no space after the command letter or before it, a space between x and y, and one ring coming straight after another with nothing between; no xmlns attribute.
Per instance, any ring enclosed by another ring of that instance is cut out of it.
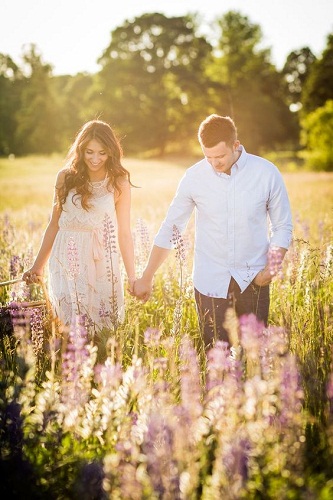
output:
<svg viewBox="0 0 333 500"><path fill-rule="evenodd" d="M303 116L333 99L333 33L327 37L327 46L311 66L302 94Z"/></svg>

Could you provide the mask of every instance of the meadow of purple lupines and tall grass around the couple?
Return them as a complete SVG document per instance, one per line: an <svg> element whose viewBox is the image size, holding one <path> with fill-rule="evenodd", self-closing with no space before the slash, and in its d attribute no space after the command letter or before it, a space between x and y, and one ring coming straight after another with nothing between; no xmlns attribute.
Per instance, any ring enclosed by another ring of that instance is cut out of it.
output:
<svg viewBox="0 0 333 500"><path fill-rule="evenodd" d="M135 210L140 272L159 221ZM33 211L0 213L0 281L27 268L42 230ZM230 311L233 345L207 353L192 236L176 228L152 299L126 296L124 322L98 335L79 314L60 333L48 304L22 307L39 286L1 287L1 498L333 499L332 235L332 212L295 216L282 266L270 257L269 327Z"/></svg>

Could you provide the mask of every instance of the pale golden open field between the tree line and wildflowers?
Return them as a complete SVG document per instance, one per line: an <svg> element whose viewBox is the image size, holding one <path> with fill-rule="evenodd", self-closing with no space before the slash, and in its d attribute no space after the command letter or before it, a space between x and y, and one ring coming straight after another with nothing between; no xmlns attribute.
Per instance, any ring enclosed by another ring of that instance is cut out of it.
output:
<svg viewBox="0 0 333 500"><path fill-rule="evenodd" d="M132 218L141 218L154 231L165 216L177 184L192 160L136 160L124 165L131 172L133 184ZM8 212L17 224L27 218L47 221L53 198L57 171L63 166L61 156L31 156L13 160L0 159L0 213ZM284 173L296 226L311 227L313 236L319 228L332 225L333 173Z"/></svg>

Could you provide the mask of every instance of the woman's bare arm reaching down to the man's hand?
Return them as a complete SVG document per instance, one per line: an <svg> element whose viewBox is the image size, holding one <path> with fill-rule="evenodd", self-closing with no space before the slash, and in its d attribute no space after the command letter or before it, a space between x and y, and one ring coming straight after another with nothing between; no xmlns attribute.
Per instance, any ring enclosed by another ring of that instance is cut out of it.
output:
<svg viewBox="0 0 333 500"><path fill-rule="evenodd" d="M131 185L128 180L121 183L121 193L116 197L118 243L126 269L130 291L135 280L134 243L131 232Z"/></svg>

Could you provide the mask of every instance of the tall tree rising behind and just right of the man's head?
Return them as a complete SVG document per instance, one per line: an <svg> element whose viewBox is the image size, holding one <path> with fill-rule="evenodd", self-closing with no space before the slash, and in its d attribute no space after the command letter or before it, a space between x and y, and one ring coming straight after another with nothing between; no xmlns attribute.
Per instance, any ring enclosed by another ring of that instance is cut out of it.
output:
<svg viewBox="0 0 333 500"><path fill-rule="evenodd" d="M294 140L283 77L270 62L270 50L260 48L260 26L235 11L216 24L220 35L210 74L220 82L223 114L235 119L240 138L253 152Z"/></svg>

